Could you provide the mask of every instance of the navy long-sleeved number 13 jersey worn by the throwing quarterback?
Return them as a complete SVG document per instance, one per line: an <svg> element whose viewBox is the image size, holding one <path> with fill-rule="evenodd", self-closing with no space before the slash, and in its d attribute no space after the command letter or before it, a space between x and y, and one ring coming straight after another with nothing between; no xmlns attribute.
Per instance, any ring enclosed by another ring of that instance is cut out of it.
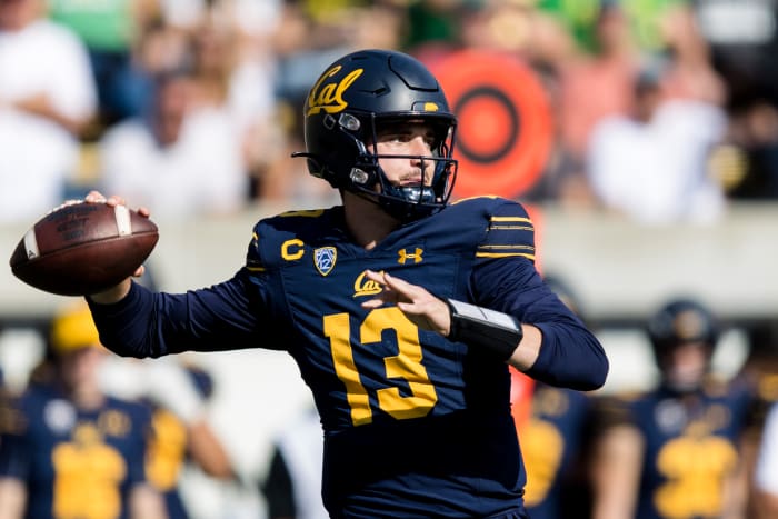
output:
<svg viewBox="0 0 778 519"><path fill-rule="evenodd" d="M325 430L323 498L335 517L491 517L522 510L525 471L510 413L510 376L489 351L417 328L395 306L365 309L386 271L536 325L543 347L529 375L601 385L597 339L533 267L525 209L477 198L396 229L370 250L349 237L342 207L261 220L235 278L186 295L133 286L92 305L121 355L188 349L288 351Z"/></svg>

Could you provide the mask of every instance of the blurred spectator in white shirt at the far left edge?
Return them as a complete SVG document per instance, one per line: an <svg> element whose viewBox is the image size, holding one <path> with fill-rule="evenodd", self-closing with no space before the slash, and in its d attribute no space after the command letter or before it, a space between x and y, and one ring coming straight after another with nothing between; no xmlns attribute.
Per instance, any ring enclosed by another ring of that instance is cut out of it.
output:
<svg viewBox="0 0 778 519"><path fill-rule="evenodd" d="M61 202L96 114L89 56L42 0L0 0L0 221L34 221Z"/></svg>

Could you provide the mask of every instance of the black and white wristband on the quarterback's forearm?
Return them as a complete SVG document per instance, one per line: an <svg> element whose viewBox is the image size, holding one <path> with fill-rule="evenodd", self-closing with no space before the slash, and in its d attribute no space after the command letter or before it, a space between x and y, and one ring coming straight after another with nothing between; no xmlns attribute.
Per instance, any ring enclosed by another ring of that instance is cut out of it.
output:
<svg viewBox="0 0 778 519"><path fill-rule="evenodd" d="M451 313L448 339L486 348L508 360L523 338L521 323L513 316L456 299L446 299Z"/></svg>

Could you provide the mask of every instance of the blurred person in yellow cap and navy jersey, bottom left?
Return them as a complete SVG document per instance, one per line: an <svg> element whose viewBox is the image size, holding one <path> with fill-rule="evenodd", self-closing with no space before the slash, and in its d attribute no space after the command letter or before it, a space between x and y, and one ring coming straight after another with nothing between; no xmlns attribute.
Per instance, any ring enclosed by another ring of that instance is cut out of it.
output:
<svg viewBox="0 0 778 519"><path fill-rule="evenodd" d="M54 317L47 359L0 431L0 517L166 517L143 466L149 408L101 391L104 353L84 305Z"/></svg>

